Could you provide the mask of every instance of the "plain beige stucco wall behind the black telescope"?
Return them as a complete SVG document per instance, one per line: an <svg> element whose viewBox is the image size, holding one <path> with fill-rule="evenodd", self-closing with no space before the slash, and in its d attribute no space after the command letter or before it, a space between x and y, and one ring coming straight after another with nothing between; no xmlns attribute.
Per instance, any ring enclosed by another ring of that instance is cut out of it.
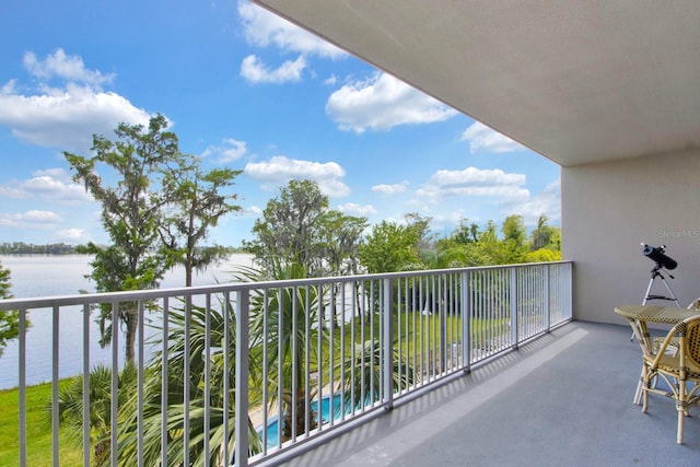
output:
<svg viewBox="0 0 700 467"><path fill-rule="evenodd" d="M667 282L682 306L700 296L700 151L564 167L561 176L575 319L625 323L615 305L642 302L654 262L640 242L666 245L678 261ZM666 293L660 280L654 292Z"/></svg>

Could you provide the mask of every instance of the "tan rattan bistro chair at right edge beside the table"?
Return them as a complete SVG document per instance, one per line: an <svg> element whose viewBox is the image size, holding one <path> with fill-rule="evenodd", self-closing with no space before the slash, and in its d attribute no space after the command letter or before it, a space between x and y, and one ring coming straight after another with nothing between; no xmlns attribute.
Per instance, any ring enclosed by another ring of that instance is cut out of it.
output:
<svg viewBox="0 0 700 467"><path fill-rule="evenodd" d="M666 352L674 342L677 342L678 351L675 354ZM668 387L656 386L655 378L662 378ZM644 355L642 392L643 412L646 412L650 393L675 400L678 411L676 441L682 444L684 418L688 416L690 406L700 405L700 315L678 323L668 332L656 354Z"/></svg>

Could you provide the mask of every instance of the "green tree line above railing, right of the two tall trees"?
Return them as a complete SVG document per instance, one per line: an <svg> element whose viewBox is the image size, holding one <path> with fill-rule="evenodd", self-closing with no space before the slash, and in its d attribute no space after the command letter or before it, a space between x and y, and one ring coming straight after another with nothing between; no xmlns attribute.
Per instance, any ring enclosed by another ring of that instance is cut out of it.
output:
<svg viewBox="0 0 700 467"><path fill-rule="evenodd" d="M366 218L328 207L328 197L311 180L291 180L268 201L244 248L261 267L298 262L310 276L341 276L404 270L446 269L561 259L561 231L540 215L528 234L520 214L501 229L462 219L439 237L430 217L409 212L401 221L369 226Z"/></svg>

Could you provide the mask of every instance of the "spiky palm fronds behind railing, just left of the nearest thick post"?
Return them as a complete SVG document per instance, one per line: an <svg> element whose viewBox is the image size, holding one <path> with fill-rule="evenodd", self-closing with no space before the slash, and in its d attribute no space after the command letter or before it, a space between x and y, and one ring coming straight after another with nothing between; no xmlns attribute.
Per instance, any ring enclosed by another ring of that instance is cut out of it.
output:
<svg viewBox="0 0 700 467"><path fill-rule="evenodd" d="M159 465L162 448L162 375L167 370L167 458L173 466L182 465L185 458L185 447L189 453L189 465L213 466L228 465L223 458L223 445L228 442L230 456L235 446L235 318L231 304L221 303L218 308L209 311L209 342L210 371L209 381L206 378L207 349L207 310L200 306L189 306L189 312L172 310L168 313L170 329L166 337L168 342L167 361L164 362L162 352L156 352L149 364L144 376L143 402L143 443L145 465ZM229 367L224 366L224 312L229 313L230 347ZM189 323L189 338L186 339L185 325ZM162 330L153 343L162 348ZM189 374L185 374L186 343L189 343ZM215 350L215 352L214 352ZM224 374L229 373L229 387L224 387ZM185 397L185 381L189 378L189 397ZM207 384L208 383L208 384ZM207 392L209 400L207 404ZM224 396L229 392L228 432L224 432ZM138 459L138 410L136 395L119 412L119 465L136 465ZM255 407L259 401L252 400ZM207 427L207 409L209 425ZM185 433L185 421L188 430ZM187 446L185 435L188 435ZM260 440L250 419L248 419L248 440L250 454L261 452ZM208 444L209 457L205 445Z"/></svg>

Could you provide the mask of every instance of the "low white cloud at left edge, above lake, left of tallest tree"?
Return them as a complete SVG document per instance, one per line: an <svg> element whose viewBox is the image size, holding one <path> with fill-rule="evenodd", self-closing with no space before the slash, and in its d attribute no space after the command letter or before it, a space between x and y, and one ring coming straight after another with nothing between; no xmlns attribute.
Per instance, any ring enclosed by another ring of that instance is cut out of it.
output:
<svg viewBox="0 0 700 467"><path fill-rule="evenodd" d="M0 185L0 197L12 199L32 199L59 202L63 205L86 203L93 201L82 185L68 179L60 168L40 171L23 180L12 180Z"/></svg>

